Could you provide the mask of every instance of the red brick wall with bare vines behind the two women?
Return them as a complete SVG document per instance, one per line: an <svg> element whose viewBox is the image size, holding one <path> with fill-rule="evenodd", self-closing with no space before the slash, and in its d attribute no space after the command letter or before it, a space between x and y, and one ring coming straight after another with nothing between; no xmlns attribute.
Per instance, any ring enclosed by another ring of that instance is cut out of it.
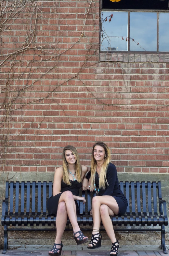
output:
<svg viewBox="0 0 169 256"><path fill-rule="evenodd" d="M99 54L98 0L37 7L1 31L5 171L54 172L68 144L90 166L104 141L119 172L168 173L169 55Z"/></svg>

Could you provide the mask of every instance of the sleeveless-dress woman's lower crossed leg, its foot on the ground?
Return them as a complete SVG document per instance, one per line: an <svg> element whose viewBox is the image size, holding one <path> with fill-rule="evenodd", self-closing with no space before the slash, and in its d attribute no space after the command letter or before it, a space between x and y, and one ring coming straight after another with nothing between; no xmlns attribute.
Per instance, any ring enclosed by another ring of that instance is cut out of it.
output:
<svg viewBox="0 0 169 256"><path fill-rule="evenodd" d="M56 216L57 232L56 232L55 244L61 244L61 238L66 227L67 218L68 218L68 215L66 211L66 204L65 202L60 202L58 204L58 211ZM60 248L60 245L57 245L57 248ZM53 253L53 251L49 251L49 253Z"/></svg>

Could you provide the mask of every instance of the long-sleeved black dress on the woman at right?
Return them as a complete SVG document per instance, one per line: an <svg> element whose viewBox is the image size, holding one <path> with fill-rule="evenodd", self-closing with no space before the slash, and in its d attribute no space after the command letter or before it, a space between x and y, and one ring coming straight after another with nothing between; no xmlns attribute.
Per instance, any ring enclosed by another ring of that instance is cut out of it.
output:
<svg viewBox="0 0 169 256"><path fill-rule="evenodd" d="M91 171L89 171L86 175L86 178L89 179L91 175ZM127 199L124 196L122 190L119 187L119 181L117 177L117 170L114 164L109 163L106 173L106 179L109 186L106 184L106 188L99 188L99 192L97 195L99 196L112 196L116 200L119 206L119 215L124 215L127 209ZM98 188L99 177L98 173L95 174L95 184Z"/></svg>

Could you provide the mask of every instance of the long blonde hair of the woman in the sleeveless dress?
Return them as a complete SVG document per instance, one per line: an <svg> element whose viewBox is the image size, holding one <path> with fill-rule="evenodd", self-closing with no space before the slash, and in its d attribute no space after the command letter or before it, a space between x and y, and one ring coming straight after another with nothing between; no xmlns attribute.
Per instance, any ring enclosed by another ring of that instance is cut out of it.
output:
<svg viewBox="0 0 169 256"><path fill-rule="evenodd" d="M75 147L73 146L66 146L63 149L63 153L62 153L62 161L63 161L63 182L66 183L67 185L71 185L71 182L69 180L69 167L68 167L68 163L66 161L66 157L65 157L65 151L66 150L71 150L72 153L74 154L75 158L76 158L76 162L75 162L75 171L76 171L76 177L77 177L77 181L78 182L82 182L82 167L80 164L80 160L79 160L79 155L77 153L77 150Z"/></svg>

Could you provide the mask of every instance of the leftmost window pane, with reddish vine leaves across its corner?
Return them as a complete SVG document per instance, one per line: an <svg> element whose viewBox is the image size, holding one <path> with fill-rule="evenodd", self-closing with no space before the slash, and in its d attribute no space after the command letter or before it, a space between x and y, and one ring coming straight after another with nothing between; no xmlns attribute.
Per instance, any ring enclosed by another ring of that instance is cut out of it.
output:
<svg viewBox="0 0 169 256"><path fill-rule="evenodd" d="M104 11L101 17L104 20L111 13L113 14L111 22L109 22L110 17L107 22L102 22L101 50L127 51L128 42L125 38L128 37L128 12Z"/></svg>

